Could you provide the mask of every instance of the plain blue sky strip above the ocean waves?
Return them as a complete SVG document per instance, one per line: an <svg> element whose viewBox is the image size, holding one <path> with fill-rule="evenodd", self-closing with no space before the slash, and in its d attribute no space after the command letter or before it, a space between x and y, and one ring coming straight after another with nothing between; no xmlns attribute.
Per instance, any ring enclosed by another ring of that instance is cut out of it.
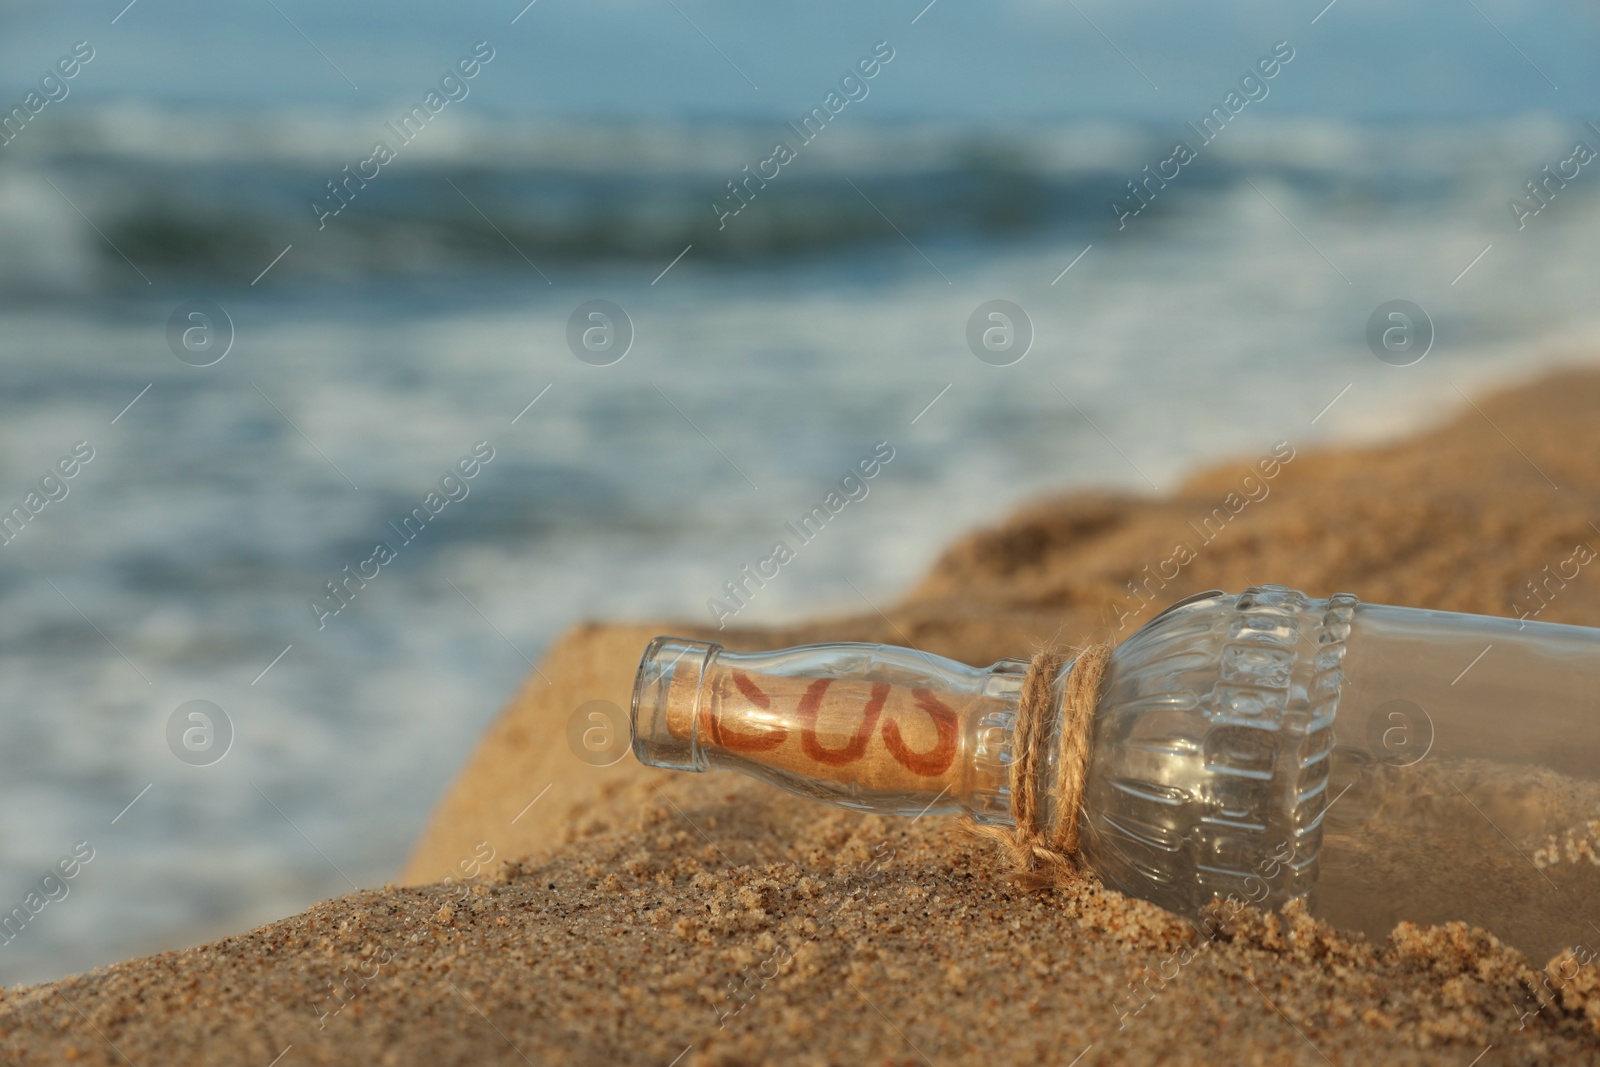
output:
<svg viewBox="0 0 1600 1067"><path fill-rule="evenodd" d="M488 112L768 120L888 42L878 120L1182 122L1286 40L1280 114L1600 118L1600 3L1576 0L525 2L0 0L0 101L86 40L74 93L90 104L378 109L486 40Z"/></svg>

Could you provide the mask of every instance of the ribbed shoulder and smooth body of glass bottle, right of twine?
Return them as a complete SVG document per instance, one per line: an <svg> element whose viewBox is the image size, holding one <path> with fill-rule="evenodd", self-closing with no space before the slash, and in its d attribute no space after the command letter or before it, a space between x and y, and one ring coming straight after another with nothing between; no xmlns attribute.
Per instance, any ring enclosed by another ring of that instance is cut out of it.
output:
<svg viewBox="0 0 1600 1067"><path fill-rule="evenodd" d="M1600 944L1600 630L1251 589L1112 657L1085 851L1195 915L1306 897L1339 928Z"/></svg>

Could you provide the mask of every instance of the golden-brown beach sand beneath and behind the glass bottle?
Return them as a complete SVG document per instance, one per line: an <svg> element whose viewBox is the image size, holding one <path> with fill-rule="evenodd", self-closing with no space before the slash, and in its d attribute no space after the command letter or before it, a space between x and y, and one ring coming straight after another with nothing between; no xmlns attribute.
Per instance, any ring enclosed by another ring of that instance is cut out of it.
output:
<svg viewBox="0 0 1600 1067"><path fill-rule="evenodd" d="M1478 402L1381 448L1298 451L1160 600L1277 581L1509 614L1600 544L1600 374ZM1515 445L1512 445L1514 442ZM1262 445L1262 454L1270 443ZM734 648L915 643L966 662L1123 637L1112 605L1256 456L1170 498L1074 494L957 541L885 616ZM1552 483L1557 488L1552 488ZM1587 571L1539 616L1600 622ZM1026 894L952 819L829 809L728 774L576 758L646 640L557 643L386 886L198 949L0 998L13 1064L1600 1064L1600 974L1453 923L1365 939L1229 917L1214 939L1085 878ZM530 806L531 803L531 806ZM1587 825L1547 848L1581 872ZM440 885L450 875L482 877ZM334 992L338 990L338 992ZM1482 1059L1477 1059L1480 1057Z"/></svg>

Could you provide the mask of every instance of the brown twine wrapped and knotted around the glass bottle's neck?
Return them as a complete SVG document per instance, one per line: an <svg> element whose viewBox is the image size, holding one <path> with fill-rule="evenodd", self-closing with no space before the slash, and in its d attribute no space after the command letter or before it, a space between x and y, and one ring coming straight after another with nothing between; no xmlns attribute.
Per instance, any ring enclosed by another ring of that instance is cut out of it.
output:
<svg viewBox="0 0 1600 1067"><path fill-rule="evenodd" d="M1030 888L1048 888L1078 870L1078 814L1083 809L1083 787L1088 781L1090 726L1106 681L1110 645L1078 649L1061 696L1059 729L1056 718L1056 678L1067 657L1046 649L1037 653L1022 680L1022 694L1011 733L1011 829L973 827L982 837L1005 846L1011 873ZM1040 825L1043 797L1038 769L1048 760L1048 745L1056 742L1056 774L1053 811L1048 825Z"/></svg>

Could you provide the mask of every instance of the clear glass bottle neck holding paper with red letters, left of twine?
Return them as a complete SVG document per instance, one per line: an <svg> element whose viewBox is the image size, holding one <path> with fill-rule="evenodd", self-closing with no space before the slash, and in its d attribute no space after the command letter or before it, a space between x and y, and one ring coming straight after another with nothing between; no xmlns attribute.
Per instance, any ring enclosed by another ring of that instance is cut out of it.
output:
<svg viewBox="0 0 1600 1067"><path fill-rule="evenodd" d="M1010 825L1027 667L976 669L888 645L730 653L656 638L634 686L634 753L651 766L736 769L858 811ZM1054 774L1053 760L1040 774ZM1040 785L1048 795L1050 782Z"/></svg>

